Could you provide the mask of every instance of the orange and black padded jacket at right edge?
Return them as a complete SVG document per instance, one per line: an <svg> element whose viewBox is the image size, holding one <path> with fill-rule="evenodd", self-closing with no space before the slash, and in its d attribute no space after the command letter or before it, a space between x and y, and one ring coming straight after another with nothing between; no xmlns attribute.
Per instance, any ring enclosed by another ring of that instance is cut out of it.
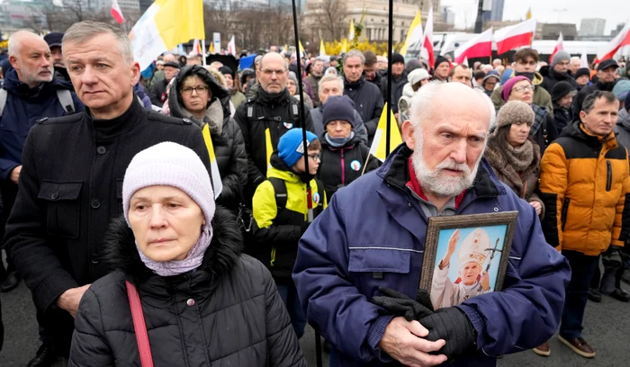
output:
<svg viewBox="0 0 630 367"><path fill-rule="evenodd" d="M624 246L630 229L628 153L615 133L600 138L581 121L563 130L541 162L542 221L547 242L558 250L599 255Z"/></svg>

